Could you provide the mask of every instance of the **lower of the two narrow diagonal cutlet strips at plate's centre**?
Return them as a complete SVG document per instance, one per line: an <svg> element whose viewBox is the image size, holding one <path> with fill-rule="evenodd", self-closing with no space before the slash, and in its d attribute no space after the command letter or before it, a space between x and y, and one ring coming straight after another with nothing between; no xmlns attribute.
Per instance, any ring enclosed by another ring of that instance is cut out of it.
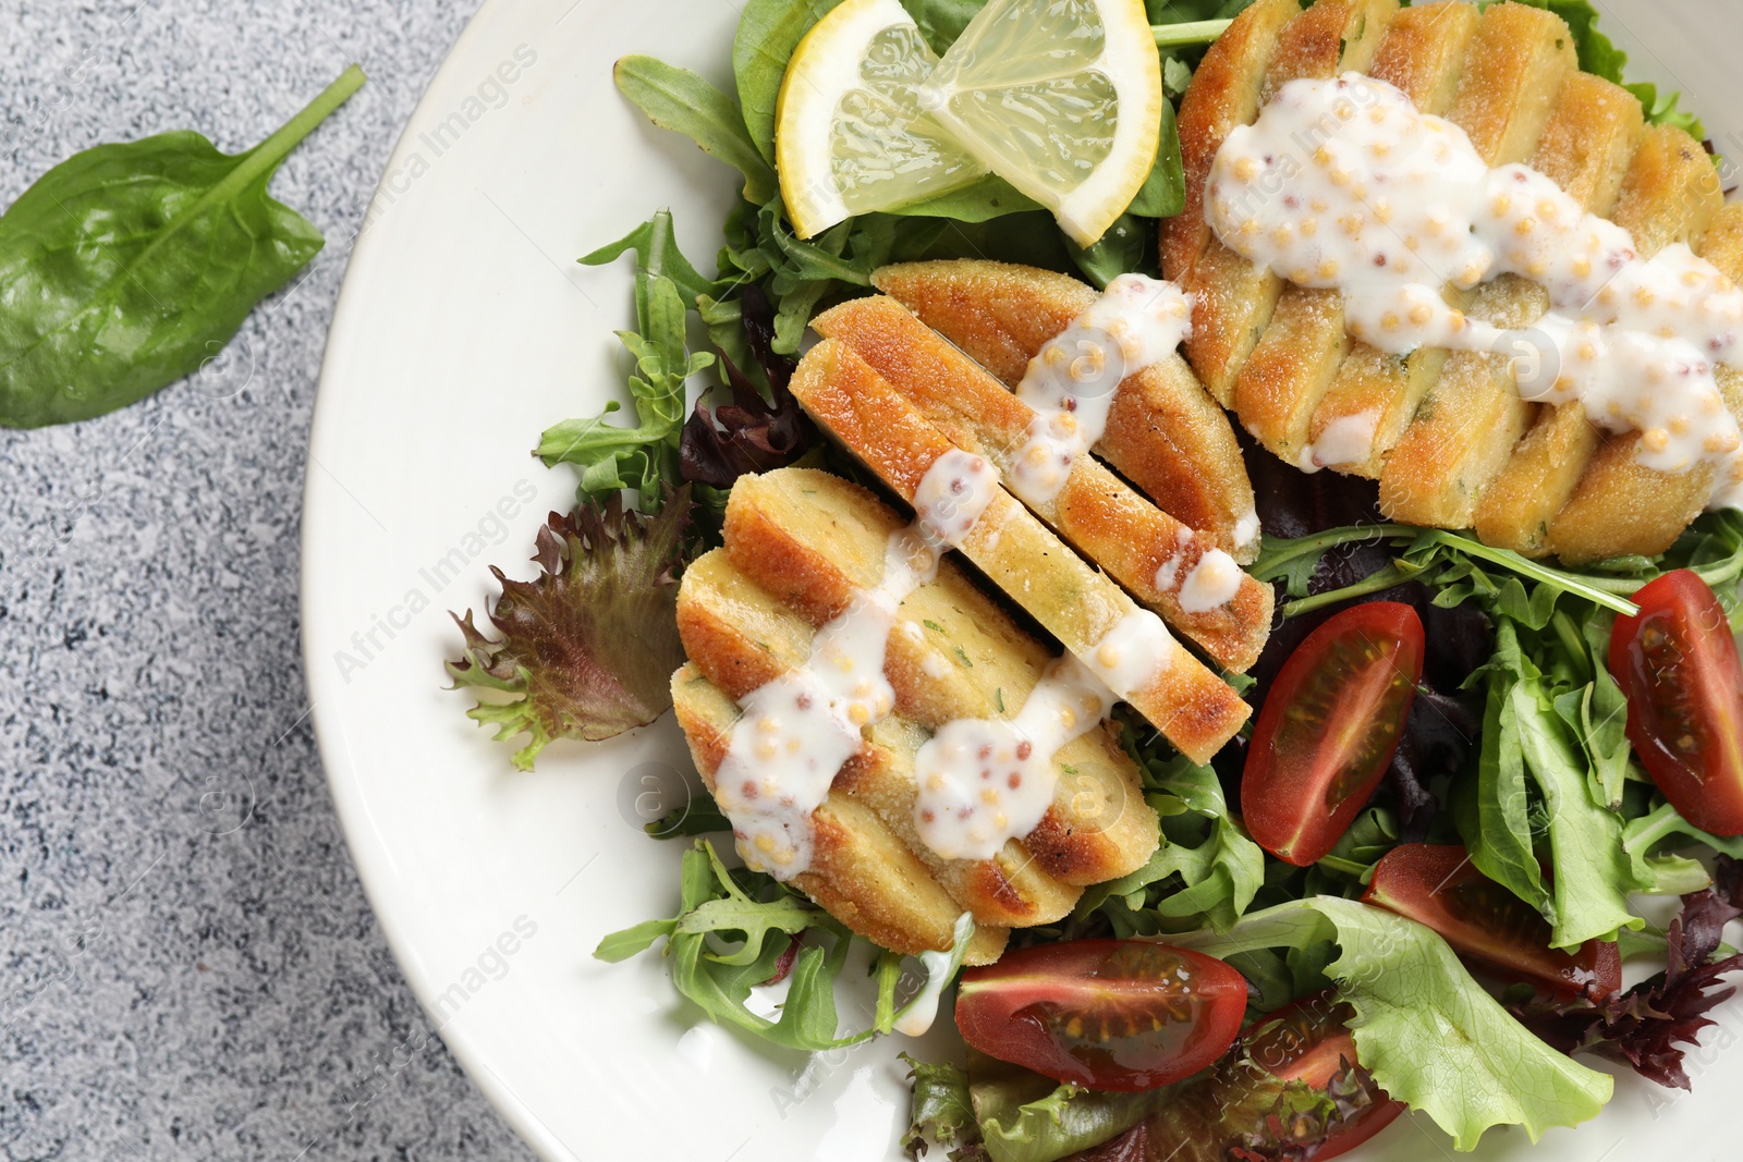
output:
<svg viewBox="0 0 1743 1162"><path fill-rule="evenodd" d="M793 375L805 411L859 456L903 500L939 456L955 448L901 392L837 340L814 347ZM1091 669L1096 646L1138 606L1093 570L1028 509L997 490L962 538L962 554ZM1154 672L1114 693L1143 714L1187 758L1210 761L1251 713L1239 695L1170 638L1147 659Z"/></svg>

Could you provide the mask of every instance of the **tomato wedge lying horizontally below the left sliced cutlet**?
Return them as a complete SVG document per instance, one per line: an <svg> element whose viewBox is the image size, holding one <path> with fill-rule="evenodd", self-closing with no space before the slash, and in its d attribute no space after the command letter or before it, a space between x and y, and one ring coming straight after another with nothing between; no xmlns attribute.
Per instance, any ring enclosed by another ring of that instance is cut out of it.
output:
<svg viewBox="0 0 1743 1162"><path fill-rule="evenodd" d="M967 969L957 1030L974 1049L1058 1082L1152 1089L1234 1044L1246 977L1154 941L1067 941Z"/></svg>

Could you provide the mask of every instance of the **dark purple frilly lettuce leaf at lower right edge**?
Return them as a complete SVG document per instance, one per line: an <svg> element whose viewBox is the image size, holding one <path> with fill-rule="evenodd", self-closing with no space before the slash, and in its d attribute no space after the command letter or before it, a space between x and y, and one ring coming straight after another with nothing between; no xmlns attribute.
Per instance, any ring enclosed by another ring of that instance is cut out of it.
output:
<svg viewBox="0 0 1743 1162"><path fill-rule="evenodd" d="M1720 986L1720 977L1743 972L1743 953L1713 960L1726 923L1743 916L1743 864L1720 855L1713 883L1682 897L1665 972L1598 1005L1539 1002L1516 1005L1513 1014L1562 1052L1595 1052L1659 1085L1689 1089L1682 1045L1694 1045L1713 1024L1706 1012L1736 991Z"/></svg>

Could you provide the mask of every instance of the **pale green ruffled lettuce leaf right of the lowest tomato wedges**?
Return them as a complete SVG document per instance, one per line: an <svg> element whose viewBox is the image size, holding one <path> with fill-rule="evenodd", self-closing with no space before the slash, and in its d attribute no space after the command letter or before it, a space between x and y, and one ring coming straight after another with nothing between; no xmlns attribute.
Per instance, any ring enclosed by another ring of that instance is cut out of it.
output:
<svg viewBox="0 0 1743 1162"><path fill-rule="evenodd" d="M1471 1150L1492 1125L1523 1125L1536 1141L1604 1108L1612 1082L1532 1037L1459 963L1431 929L1330 895L1243 918L1229 932L1170 937L1213 956L1253 948L1307 948L1333 939L1326 965L1361 1064L1393 1098L1428 1113Z"/></svg>

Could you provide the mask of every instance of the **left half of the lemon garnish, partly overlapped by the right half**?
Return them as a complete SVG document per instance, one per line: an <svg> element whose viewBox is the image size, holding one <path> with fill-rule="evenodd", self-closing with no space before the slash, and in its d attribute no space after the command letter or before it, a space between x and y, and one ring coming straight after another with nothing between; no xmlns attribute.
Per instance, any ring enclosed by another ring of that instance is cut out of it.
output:
<svg viewBox="0 0 1743 1162"><path fill-rule="evenodd" d="M776 101L776 167L798 237L987 172L920 110L934 68L898 0L845 0L805 33Z"/></svg>

